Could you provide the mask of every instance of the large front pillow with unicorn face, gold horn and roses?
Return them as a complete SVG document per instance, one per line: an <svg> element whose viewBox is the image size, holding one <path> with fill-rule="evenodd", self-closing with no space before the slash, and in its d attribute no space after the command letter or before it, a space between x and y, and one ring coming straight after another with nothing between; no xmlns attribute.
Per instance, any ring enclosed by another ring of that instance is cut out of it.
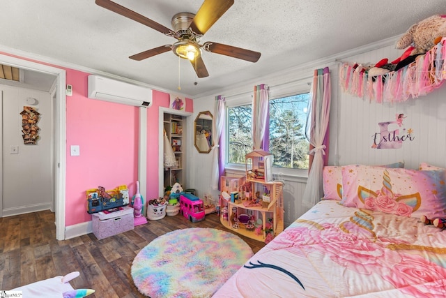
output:
<svg viewBox="0 0 446 298"><path fill-rule="evenodd" d="M342 167L346 207L420 218L446 217L445 170L348 165Z"/></svg>

